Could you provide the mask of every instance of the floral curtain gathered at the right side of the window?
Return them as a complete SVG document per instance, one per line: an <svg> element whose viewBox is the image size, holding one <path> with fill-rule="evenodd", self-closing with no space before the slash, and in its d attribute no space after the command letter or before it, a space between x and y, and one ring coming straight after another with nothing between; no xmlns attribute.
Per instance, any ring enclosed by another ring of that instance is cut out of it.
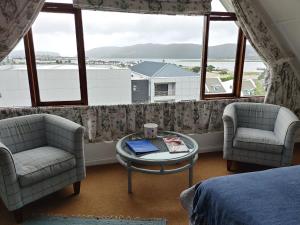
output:
<svg viewBox="0 0 300 225"><path fill-rule="evenodd" d="M231 0L241 29L268 65L265 102L283 105L300 116L300 81L253 0Z"/></svg>

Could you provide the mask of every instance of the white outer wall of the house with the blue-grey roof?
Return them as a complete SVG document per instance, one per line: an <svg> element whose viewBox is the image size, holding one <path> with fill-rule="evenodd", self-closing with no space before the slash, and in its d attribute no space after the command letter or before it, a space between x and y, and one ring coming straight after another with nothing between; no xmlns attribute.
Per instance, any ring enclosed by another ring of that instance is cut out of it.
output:
<svg viewBox="0 0 300 225"><path fill-rule="evenodd" d="M155 96L155 83L175 83L175 96ZM166 100L199 100L200 76L199 77L152 77L150 79L151 102Z"/></svg>

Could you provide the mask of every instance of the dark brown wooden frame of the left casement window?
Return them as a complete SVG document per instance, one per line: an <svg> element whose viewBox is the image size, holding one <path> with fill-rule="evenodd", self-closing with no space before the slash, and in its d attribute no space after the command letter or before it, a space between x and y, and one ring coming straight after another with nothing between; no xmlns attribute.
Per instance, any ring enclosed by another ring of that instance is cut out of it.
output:
<svg viewBox="0 0 300 225"><path fill-rule="evenodd" d="M25 55L26 55L32 106L88 105L86 63L85 63L85 50L84 50L81 10L74 8L72 4L68 4L68 3L45 2L41 12L74 15L79 84L80 84L80 100L41 101L39 84L38 84L38 73L36 67L35 50L34 50L34 43L33 43L34 34L32 33L32 29L30 28L30 30L24 36L24 45L25 45Z"/></svg>

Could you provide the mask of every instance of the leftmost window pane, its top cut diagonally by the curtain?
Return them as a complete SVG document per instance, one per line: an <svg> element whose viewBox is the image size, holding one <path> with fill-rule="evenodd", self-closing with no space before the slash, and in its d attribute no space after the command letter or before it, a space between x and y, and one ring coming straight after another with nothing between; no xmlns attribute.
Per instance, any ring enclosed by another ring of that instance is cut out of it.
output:
<svg viewBox="0 0 300 225"><path fill-rule="evenodd" d="M0 107L31 106L23 43L0 62Z"/></svg>

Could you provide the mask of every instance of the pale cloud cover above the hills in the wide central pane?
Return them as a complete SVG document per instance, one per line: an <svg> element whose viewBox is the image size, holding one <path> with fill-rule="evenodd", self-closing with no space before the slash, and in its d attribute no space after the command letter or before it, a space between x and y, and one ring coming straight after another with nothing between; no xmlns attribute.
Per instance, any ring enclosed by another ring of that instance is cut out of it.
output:
<svg viewBox="0 0 300 225"><path fill-rule="evenodd" d="M197 40L200 43L202 26L203 17L83 12L85 39L92 39L93 36L101 38L107 35L112 37L118 35L119 41L115 45L186 42L187 40ZM125 42L124 37L128 36L132 36L133 39ZM91 46L91 43L88 45Z"/></svg>

